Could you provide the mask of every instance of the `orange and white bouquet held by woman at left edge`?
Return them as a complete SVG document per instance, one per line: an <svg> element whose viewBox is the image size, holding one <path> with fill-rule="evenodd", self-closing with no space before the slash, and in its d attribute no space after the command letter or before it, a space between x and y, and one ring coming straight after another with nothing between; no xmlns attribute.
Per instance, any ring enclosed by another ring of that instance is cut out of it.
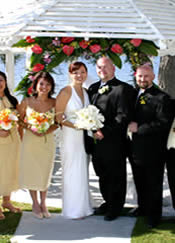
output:
<svg viewBox="0 0 175 243"><path fill-rule="evenodd" d="M18 121L14 110L5 108L0 111L0 129L10 130Z"/></svg>

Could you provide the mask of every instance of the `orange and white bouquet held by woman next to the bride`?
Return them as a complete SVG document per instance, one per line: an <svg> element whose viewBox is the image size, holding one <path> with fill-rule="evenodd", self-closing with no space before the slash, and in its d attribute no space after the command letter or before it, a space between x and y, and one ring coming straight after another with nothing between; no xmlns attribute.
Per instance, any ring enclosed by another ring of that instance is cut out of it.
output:
<svg viewBox="0 0 175 243"><path fill-rule="evenodd" d="M34 132L45 133L54 124L54 116L50 112L39 113L31 108L27 109L27 121Z"/></svg>

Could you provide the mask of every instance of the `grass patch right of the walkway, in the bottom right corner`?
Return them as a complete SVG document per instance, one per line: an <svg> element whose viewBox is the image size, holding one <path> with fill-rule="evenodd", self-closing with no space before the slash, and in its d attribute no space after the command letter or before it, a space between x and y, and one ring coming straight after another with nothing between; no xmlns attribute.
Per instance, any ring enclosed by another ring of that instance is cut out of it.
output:
<svg viewBox="0 0 175 243"><path fill-rule="evenodd" d="M143 217L136 221L132 232L132 243L175 243L175 218L163 217L161 223L149 229Z"/></svg>

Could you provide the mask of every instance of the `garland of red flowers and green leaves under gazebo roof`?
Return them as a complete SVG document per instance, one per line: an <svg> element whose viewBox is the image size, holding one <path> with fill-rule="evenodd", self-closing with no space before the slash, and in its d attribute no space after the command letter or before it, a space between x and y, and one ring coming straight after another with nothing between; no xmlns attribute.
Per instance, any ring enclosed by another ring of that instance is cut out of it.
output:
<svg viewBox="0 0 175 243"><path fill-rule="evenodd" d="M141 39L107 39L75 37L36 37L27 36L13 47L31 48L30 67L15 91L24 97L32 94L32 80L39 71L52 72L63 61L73 61L84 57L95 62L99 57L107 55L112 62L121 68L121 55L131 63L133 72L137 66L151 62L151 56L158 55L158 47L154 42Z"/></svg>

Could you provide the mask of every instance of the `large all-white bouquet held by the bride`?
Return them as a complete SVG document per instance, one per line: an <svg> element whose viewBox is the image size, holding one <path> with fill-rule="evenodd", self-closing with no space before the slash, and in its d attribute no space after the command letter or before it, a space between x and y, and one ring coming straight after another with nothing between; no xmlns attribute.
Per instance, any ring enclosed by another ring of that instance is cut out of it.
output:
<svg viewBox="0 0 175 243"><path fill-rule="evenodd" d="M102 128L105 120L99 109L94 105L89 105L81 110L75 112L76 119L74 125L78 129L85 129L88 131L98 130Z"/></svg>

